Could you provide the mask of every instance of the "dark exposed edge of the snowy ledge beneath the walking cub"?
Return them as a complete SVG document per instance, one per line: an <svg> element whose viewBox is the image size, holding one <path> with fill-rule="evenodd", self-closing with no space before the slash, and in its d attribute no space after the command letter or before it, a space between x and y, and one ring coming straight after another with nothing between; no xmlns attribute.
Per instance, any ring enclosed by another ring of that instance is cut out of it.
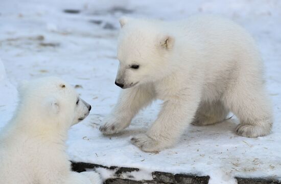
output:
<svg viewBox="0 0 281 184"><path fill-rule="evenodd" d="M131 179L120 178L123 173L132 171L139 171L137 168L126 167L106 167L97 164L88 163L75 163L72 162L72 169L76 172L83 172L86 169L105 168L108 170L114 170L114 178L109 178L105 181L106 184L208 184L209 176L195 176L190 174L172 174L166 172L152 172L153 180L136 181ZM238 184L281 184L280 181L264 178L236 178Z"/></svg>

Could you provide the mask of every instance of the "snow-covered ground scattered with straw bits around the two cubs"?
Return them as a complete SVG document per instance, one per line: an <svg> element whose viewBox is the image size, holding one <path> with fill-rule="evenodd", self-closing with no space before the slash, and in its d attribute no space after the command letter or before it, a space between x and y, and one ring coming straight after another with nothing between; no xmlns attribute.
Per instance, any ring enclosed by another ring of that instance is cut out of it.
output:
<svg viewBox="0 0 281 184"><path fill-rule="evenodd" d="M14 86L19 81L56 75L76 85L93 107L89 117L69 131L72 160L135 167L143 173L209 175L209 183L236 183L234 176L281 179L280 1L4 0L0 7L0 58L7 73L5 77L0 61L0 127L12 116ZM67 13L65 9L79 11ZM172 20L196 13L221 14L235 20L256 39L274 107L272 133L257 139L237 136L233 130L238 121L233 118L214 126L191 126L175 147L157 154L144 153L130 144L130 137L145 132L153 122L161 103L157 101L122 133L103 136L98 128L120 91L114 85L118 18Z"/></svg>

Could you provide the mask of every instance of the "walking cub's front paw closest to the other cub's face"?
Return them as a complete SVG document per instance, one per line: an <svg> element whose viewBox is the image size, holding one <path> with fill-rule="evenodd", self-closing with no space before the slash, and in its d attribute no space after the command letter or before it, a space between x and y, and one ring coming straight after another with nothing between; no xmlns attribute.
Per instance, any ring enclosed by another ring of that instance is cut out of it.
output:
<svg viewBox="0 0 281 184"><path fill-rule="evenodd" d="M105 135L110 135L124 130L128 124L127 121L121 121L119 118L112 117L104 121L104 124L100 126L100 131Z"/></svg>

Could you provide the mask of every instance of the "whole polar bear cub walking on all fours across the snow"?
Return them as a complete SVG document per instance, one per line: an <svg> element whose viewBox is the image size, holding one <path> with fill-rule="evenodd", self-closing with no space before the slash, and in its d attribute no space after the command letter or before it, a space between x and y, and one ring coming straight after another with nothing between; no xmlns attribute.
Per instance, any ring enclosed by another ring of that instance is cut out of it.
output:
<svg viewBox="0 0 281 184"><path fill-rule="evenodd" d="M184 21L122 18L115 84L120 99L100 130L112 134L154 99L163 101L147 133L131 141L143 151L171 147L191 123L210 125L229 111L239 135L270 133L272 110L263 63L252 37L234 22L215 16Z"/></svg>

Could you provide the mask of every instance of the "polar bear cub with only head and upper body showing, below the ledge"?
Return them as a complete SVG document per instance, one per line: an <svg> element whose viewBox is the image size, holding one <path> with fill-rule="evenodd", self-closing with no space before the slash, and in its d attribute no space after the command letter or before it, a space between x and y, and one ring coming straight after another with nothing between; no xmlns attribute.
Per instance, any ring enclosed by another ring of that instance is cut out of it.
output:
<svg viewBox="0 0 281 184"><path fill-rule="evenodd" d="M0 180L5 184L102 183L96 172L76 173L65 153L67 130L91 106L56 77L19 86L20 102L0 133Z"/></svg>

